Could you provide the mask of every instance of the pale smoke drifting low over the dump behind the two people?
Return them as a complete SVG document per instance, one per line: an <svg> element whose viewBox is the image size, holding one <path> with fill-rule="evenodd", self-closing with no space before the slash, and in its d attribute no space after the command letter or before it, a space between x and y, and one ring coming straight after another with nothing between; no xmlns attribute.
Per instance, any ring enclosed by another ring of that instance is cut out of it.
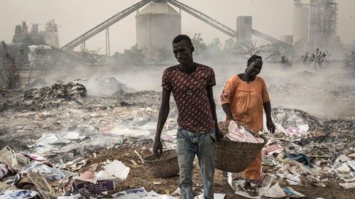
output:
<svg viewBox="0 0 355 199"><path fill-rule="evenodd" d="M219 95L224 83L232 75L244 72L246 61L230 65L209 65L214 69L217 85L214 87L214 99L217 104L219 119L224 119L224 112L219 103ZM161 91L161 76L167 68L160 66L126 67L82 67L72 72L53 72L45 80L48 84L62 80L64 82L82 78L114 77L118 82L134 90ZM69 74L69 75L68 75ZM318 117L353 117L355 114L355 90L352 85L355 78L344 70L343 63L329 63L327 68L315 71L301 62L285 68L280 63L264 63L259 76L263 77L268 87L272 107L302 109ZM95 96L105 97L102 90L114 90L114 85L87 84L87 90L96 91ZM115 85L117 82L115 82ZM89 94L89 93L88 93Z"/></svg>

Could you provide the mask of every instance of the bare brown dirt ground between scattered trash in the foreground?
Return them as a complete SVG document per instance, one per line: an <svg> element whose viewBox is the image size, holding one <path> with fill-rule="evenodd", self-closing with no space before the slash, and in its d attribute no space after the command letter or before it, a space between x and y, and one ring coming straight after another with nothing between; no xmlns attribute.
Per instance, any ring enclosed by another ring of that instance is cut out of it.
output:
<svg viewBox="0 0 355 199"><path fill-rule="evenodd" d="M145 145L146 144L147 143L145 143ZM148 143L148 146L153 146L153 142ZM160 194L173 193L179 186L179 176L174 176L172 178L155 178L149 171L149 167L145 163L142 163L139 156L134 152L136 150L142 157L144 157L152 154L149 149L150 148L141 151L140 144L137 144L137 146L128 146L123 144L116 149L102 151L102 153L98 154L97 158L90 158L87 166L91 165L92 163L103 163L107 160L119 160L126 166L129 166L131 170L126 181L116 184L117 191L144 187L147 191L154 190ZM131 160L136 161L138 165L133 165ZM82 171L84 170L85 168L82 169ZM264 167L263 169L263 171L266 173L272 170L272 168L268 167ZM234 173L234 176L238 177L239 175ZM194 195L199 195L202 191L202 180L197 161L194 163L192 178L194 182L193 187L195 188ZM353 189L346 190L339 185L339 183L342 181L333 179L329 181L329 183L326 183L326 188L320 188L312 185L310 182L307 182L306 178L302 180L305 180L306 183L297 186L291 185L291 187L305 195L305 198L355 198L355 192ZM154 183L159 184L155 185ZM278 181L278 183L280 183L280 185L290 186L288 183L282 181ZM234 190L226 182L226 177L224 177L222 171L219 170L216 170L214 174L214 191L215 193L225 193L226 199L244 198L234 194Z"/></svg>

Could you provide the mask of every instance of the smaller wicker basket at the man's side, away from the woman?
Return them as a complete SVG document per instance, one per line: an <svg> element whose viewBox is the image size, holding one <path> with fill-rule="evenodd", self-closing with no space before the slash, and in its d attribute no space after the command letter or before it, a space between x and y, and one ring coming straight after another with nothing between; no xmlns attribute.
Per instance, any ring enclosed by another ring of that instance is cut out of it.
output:
<svg viewBox="0 0 355 199"><path fill-rule="evenodd" d="M179 173L178 155L174 149L163 151L160 158L151 155L143 158L143 161L157 178L170 178Z"/></svg>

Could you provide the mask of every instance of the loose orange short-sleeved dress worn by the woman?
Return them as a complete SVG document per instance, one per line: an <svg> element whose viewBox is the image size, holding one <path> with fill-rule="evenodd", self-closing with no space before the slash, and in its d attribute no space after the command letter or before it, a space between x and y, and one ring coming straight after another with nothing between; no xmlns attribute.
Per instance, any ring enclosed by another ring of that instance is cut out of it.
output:
<svg viewBox="0 0 355 199"><path fill-rule="evenodd" d="M270 101L263 78L256 77L247 83L238 75L234 75L224 85L220 98L222 104L230 104L231 113L236 121L253 131L263 131L263 104ZM261 177L261 152L243 173L244 178L250 180Z"/></svg>

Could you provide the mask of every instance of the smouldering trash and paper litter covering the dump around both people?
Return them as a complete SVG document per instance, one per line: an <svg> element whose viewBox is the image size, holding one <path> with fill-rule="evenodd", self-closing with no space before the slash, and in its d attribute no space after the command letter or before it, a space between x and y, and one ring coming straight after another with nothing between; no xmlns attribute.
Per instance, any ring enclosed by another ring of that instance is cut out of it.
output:
<svg viewBox="0 0 355 199"><path fill-rule="evenodd" d="M103 85L117 83L113 79L97 81ZM171 191L172 186L173 190L178 187L178 178L163 181L145 176L147 167L135 155L142 151L152 153L161 93L117 90L109 97L85 97L86 89L79 83L58 83L27 90L24 97L20 90L0 90L0 146L12 144L12 149L4 147L0 151L0 198L95 198L107 191L112 191L107 195L111 198L179 197ZM53 108L53 104L57 106ZM165 150L176 147L177 113L172 99L161 134ZM329 183L334 182L344 188L355 187L353 120L320 120L300 109L283 107L274 108L272 117L275 133L268 133L266 127L263 131L268 144L262 151L263 171L267 175L263 178L264 188L259 191L261 195L301 197L307 194L295 191L299 185L329 188ZM132 152L131 148L122 148L126 146L135 148ZM111 158L102 158L104 150L111 151ZM131 168L131 177L120 176L112 166L125 175L127 168ZM133 172L139 173L133 176ZM136 181L132 182L132 178ZM117 188L117 181L125 183ZM236 192L245 194L240 189L241 181L229 182ZM81 189L81 185L87 190ZM223 185L223 190L229 186ZM170 192L166 192L167 187Z"/></svg>

